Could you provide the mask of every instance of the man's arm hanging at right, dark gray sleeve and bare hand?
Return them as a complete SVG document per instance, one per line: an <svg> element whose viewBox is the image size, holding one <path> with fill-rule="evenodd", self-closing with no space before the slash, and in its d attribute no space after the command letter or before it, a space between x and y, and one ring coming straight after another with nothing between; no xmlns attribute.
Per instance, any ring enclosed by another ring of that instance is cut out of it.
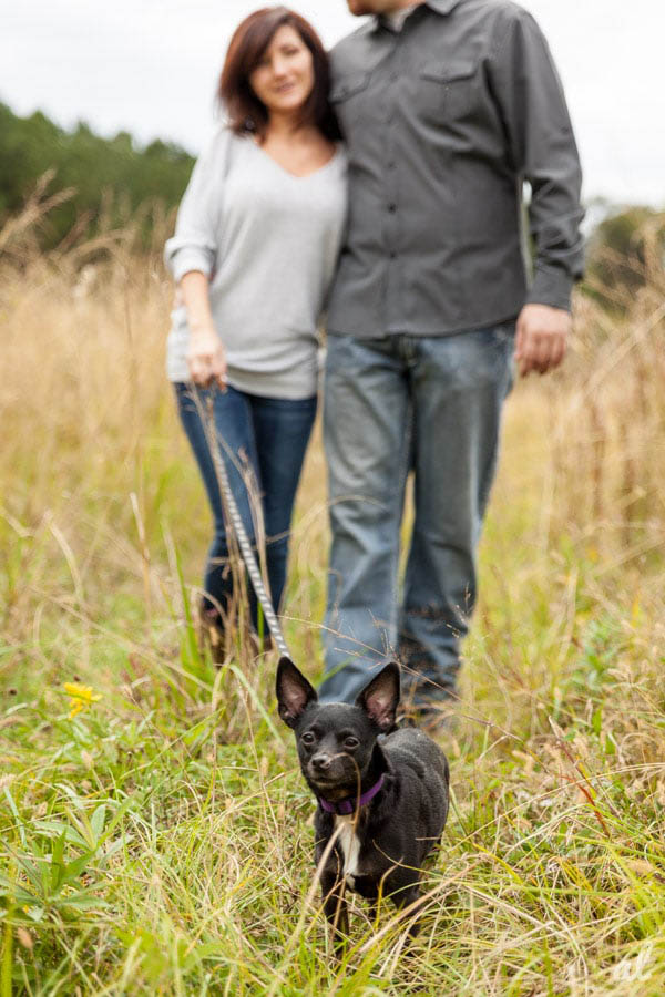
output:
<svg viewBox="0 0 665 997"><path fill-rule="evenodd" d="M520 373L561 363L571 329L571 290L582 276L582 172L559 75L540 28L513 8L490 59L512 165L531 185L534 279L518 319Z"/></svg>

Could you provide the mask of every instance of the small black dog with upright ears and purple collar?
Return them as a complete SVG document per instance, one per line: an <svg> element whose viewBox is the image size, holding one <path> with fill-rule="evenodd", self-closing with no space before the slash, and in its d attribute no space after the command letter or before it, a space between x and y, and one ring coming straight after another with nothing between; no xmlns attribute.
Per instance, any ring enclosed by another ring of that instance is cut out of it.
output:
<svg viewBox="0 0 665 997"><path fill-rule="evenodd" d="M288 658L277 669L279 716L296 734L303 774L318 806L317 866L326 915L348 932L345 885L398 907L420 896L422 863L440 841L448 815L448 762L422 731L397 729L399 666L387 665L354 706L320 705ZM382 737L381 737L382 736ZM413 921L410 933L417 932Z"/></svg>

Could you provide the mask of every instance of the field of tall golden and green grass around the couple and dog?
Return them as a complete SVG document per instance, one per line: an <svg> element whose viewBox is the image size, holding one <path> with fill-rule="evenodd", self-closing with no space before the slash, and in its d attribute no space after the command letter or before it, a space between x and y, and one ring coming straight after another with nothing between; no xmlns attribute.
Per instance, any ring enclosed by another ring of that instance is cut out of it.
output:
<svg viewBox="0 0 665 997"><path fill-rule="evenodd" d="M0 236L0 997L665 993L658 261L616 315L580 298L564 371L508 404L423 928L406 956L355 902L339 964L275 659L215 669L190 624L170 286L122 234L30 254L31 220ZM316 440L286 623L313 678L326 531Z"/></svg>

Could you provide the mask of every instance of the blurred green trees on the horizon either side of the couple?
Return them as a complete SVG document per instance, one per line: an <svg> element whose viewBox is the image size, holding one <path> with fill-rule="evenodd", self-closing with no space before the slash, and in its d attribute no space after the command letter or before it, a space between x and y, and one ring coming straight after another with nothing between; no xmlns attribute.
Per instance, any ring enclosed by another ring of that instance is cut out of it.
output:
<svg viewBox="0 0 665 997"><path fill-rule="evenodd" d="M40 111L19 117L0 103L0 228L48 174L48 192L66 189L70 196L43 218L42 249L71 240L72 233L84 239L100 227L122 228L137 219L150 245L155 218L177 206L193 164L193 156L172 142L140 147L127 132L103 138L83 122L65 131ZM612 307L634 297L654 263L662 266L665 214L605 205L600 217L589 239L586 290ZM163 237L163 230L157 235Z"/></svg>

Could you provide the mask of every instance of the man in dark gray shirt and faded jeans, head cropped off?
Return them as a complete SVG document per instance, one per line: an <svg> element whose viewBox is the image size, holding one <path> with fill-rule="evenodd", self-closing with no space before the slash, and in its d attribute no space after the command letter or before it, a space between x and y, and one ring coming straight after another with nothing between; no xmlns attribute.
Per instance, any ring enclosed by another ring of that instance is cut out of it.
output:
<svg viewBox="0 0 665 997"><path fill-rule="evenodd" d="M582 273L581 173L556 71L524 10L508 0L348 6L374 17L332 51L350 206L328 309L321 693L352 700L397 650L427 715L454 691L513 356L522 374L545 373L565 352Z"/></svg>

